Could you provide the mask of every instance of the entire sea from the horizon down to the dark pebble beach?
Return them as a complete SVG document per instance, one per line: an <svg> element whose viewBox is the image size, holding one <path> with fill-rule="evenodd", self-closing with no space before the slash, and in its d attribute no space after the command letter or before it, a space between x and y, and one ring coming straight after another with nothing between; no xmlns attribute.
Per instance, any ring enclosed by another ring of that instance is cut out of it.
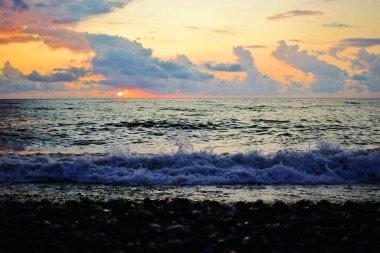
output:
<svg viewBox="0 0 380 253"><path fill-rule="evenodd" d="M0 198L380 201L380 99L0 100Z"/></svg>

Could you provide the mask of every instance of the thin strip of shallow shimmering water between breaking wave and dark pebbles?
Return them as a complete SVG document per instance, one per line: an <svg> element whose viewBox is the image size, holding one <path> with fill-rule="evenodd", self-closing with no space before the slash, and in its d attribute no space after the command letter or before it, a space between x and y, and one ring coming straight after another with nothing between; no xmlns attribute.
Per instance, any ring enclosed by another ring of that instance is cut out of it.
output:
<svg viewBox="0 0 380 253"><path fill-rule="evenodd" d="M213 200L225 204L262 200L272 204L278 200L292 204L300 200L317 203L327 200L342 204L380 202L380 184L341 185L176 185L123 186L68 183L0 183L0 201L40 201L64 203L88 198L106 202L113 199L141 202L145 198L165 200L186 198L191 201Z"/></svg>

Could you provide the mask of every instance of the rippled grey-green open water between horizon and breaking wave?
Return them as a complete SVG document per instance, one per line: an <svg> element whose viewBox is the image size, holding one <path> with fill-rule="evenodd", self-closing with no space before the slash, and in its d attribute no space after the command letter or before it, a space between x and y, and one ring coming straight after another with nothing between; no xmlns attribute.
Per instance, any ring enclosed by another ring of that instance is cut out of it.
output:
<svg viewBox="0 0 380 253"><path fill-rule="evenodd" d="M3 152L172 152L178 129L195 150L216 153L305 150L319 137L372 149L380 146L380 100L0 100Z"/></svg>

